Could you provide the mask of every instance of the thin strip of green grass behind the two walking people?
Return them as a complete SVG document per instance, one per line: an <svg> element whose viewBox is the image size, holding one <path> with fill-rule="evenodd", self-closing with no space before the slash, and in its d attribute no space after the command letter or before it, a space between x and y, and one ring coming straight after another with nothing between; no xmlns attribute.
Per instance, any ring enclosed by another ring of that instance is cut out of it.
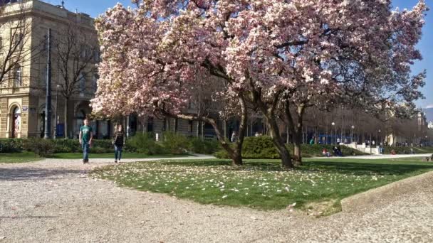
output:
<svg viewBox="0 0 433 243"><path fill-rule="evenodd" d="M163 155L145 155L142 153L122 153L122 158L172 158L172 157L182 157L189 155L173 155L173 154L163 154ZM83 153L54 153L50 158L83 158ZM113 158L113 153L89 153L89 158Z"/></svg>

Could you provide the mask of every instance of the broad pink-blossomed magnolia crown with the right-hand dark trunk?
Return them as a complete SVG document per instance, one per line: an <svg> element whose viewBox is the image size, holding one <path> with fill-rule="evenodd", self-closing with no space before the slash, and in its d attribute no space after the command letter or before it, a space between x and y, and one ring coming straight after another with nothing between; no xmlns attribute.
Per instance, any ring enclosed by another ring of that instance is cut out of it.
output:
<svg viewBox="0 0 433 243"><path fill-rule="evenodd" d="M133 2L136 9L118 5L100 18L105 78L95 108L132 112L176 104L169 109L177 113L196 70L203 70L226 83L239 104L249 102L264 115L286 168L293 162L277 113L294 92L326 90L365 102L422 85L422 78L409 77L409 65L420 58L414 45L424 1L402 12L386 0Z"/></svg>

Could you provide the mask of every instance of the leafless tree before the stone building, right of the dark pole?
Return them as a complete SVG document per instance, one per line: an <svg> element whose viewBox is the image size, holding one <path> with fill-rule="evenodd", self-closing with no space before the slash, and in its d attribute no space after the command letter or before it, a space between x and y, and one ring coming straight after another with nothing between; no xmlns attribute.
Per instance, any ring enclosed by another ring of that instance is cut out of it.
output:
<svg viewBox="0 0 433 243"><path fill-rule="evenodd" d="M58 58L58 72L63 79L63 82L58 85L59 94L65 99L66 137L68 137L68 107L71 97L84 96L86 77L97 72L95 63L99 59L99 48L95 40L96 36L84 32L73 22L57 31L57 35L53 38L53 49Z"/></svg>

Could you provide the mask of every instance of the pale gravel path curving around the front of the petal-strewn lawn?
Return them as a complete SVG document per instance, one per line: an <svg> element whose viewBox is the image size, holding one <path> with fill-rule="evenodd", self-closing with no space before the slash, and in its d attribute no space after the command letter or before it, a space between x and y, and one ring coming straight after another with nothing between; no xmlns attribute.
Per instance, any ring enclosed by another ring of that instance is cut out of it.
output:
<svg viewBox="0 0 433 243"><path fill-rule="evenodd" d="M0 164L0 243L433 242L432 184L362 212L316 219L199 205L87 177L109 161Z"/></svg>

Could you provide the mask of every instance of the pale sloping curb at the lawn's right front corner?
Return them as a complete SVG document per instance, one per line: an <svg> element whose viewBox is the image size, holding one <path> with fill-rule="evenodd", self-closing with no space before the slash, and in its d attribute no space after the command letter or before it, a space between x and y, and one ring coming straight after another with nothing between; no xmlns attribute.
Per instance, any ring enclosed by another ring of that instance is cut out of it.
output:
<svg viewBox="0 0 433 243"><path fill-rule="evenodd" d="M380 188L367 190L349 198L341 200L341 209L343 212L355 212L367 210L372 205L387 205L398 195L414 193L420 190L432 190L433 188L433 171L416 175L403 180L383 185Z"/></svg>

